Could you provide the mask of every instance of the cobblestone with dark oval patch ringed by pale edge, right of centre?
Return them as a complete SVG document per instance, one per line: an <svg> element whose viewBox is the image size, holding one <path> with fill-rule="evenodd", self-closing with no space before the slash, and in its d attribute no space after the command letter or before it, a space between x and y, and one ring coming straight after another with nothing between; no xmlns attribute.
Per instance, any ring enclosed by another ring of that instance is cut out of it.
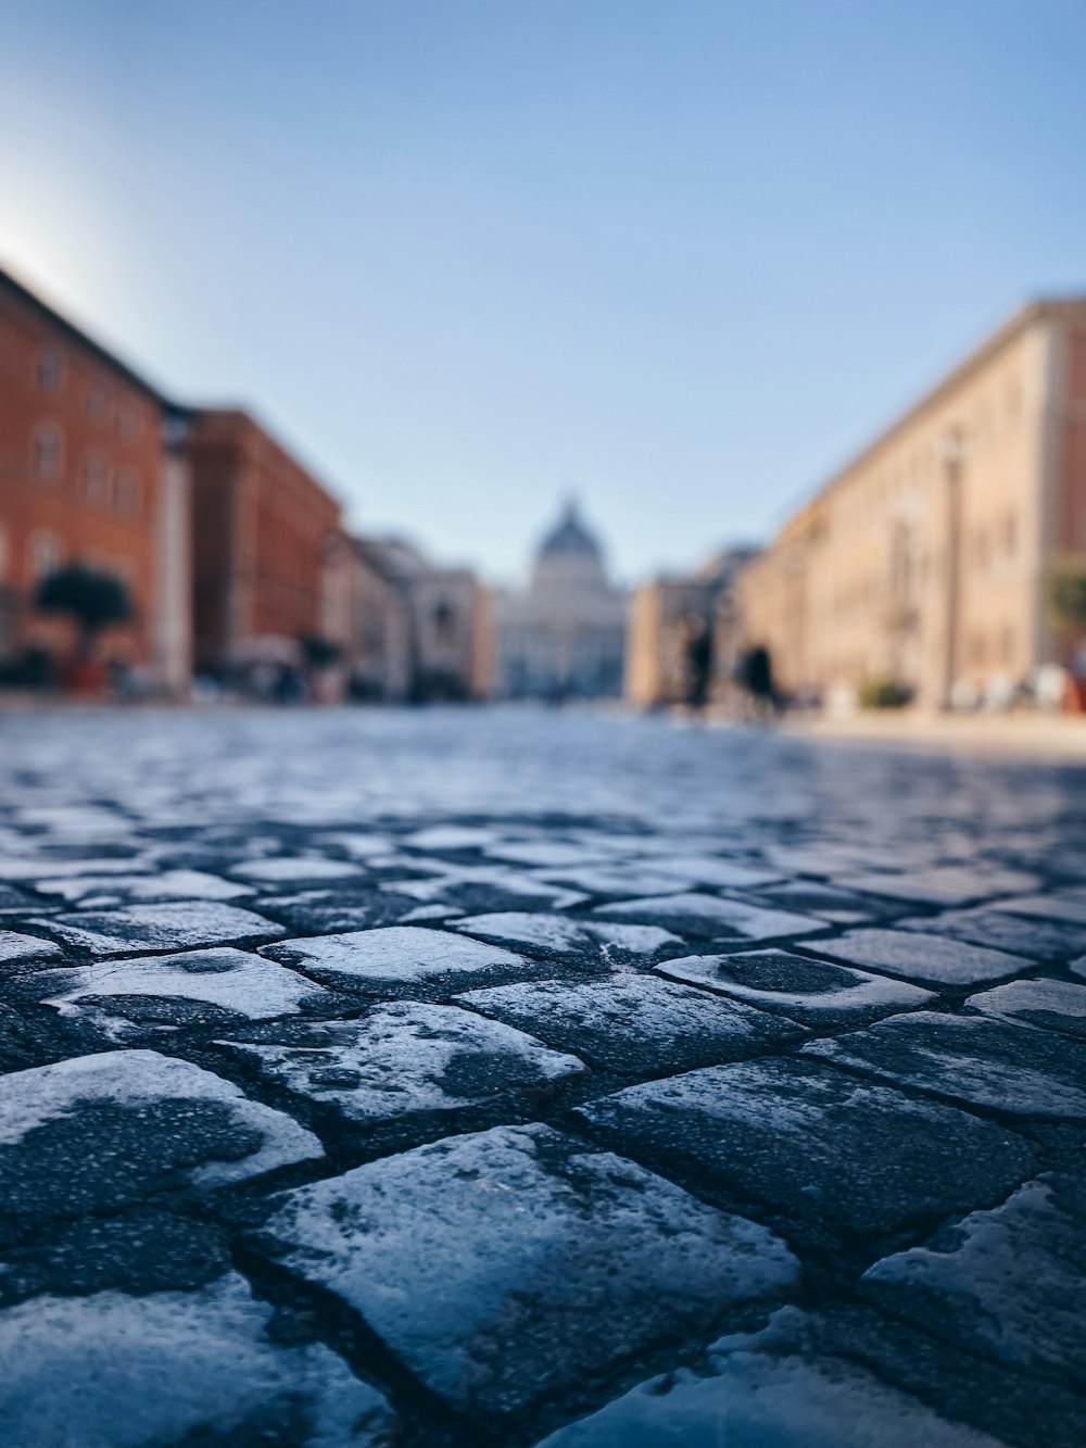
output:
<svg viewBox="0 0 1086 1448"><path fill-rule="evenodd" d="M683 956L654 967L672 980L707 986L723 995L776 1011L804 1025L857 1025L895 1011L915 1009L931 990L888 980L830 960L786 950L749 950L736 956Z"/></svg>

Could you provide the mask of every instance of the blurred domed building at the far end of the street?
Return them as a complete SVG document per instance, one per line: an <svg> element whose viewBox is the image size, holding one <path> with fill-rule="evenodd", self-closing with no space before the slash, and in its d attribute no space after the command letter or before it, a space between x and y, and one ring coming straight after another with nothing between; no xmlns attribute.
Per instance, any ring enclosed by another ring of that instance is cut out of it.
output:
<svg viewBox="0 0 1086 1448"><path fill-rule="evenodd" d="M604 699L623 692L626 594L571 502L536 553L529 586L495 605L494 694Z"/></svg>

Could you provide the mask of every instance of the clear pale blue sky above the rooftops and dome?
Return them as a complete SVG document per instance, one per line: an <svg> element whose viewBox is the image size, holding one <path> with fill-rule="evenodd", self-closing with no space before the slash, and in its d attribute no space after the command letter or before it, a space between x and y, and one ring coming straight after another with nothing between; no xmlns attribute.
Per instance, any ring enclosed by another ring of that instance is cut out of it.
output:
<svg viewBox="0 0 1086 1448"><path fill-rule="evenodd" d="M1083 0L0 0L0 264L363 530L767 536L1086 291Z"/></svg>

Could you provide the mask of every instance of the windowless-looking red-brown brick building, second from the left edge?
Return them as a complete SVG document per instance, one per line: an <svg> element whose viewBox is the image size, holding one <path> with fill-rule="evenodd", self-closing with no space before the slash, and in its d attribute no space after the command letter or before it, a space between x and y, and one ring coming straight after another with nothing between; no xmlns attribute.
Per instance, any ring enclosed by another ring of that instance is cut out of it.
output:
<svg viewBox="0 0 1086 1448"><path fill-rule="evenodd" d="M340 505L248 413L191 414L195 666L290 662L321 634Z"/></svg>

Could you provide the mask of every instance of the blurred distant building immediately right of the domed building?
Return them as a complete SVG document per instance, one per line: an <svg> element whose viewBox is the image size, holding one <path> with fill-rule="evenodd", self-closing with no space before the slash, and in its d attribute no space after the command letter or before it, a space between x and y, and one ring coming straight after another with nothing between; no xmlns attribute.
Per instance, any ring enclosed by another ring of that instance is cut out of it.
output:
<svg viewBox="0 0 1086 1448"><path fill-rule="evenodd" d="M656 578L630 597L626 699L639 708L704 704L734 666L734 584L757 549L714 555L688 578Z"/></svg>

